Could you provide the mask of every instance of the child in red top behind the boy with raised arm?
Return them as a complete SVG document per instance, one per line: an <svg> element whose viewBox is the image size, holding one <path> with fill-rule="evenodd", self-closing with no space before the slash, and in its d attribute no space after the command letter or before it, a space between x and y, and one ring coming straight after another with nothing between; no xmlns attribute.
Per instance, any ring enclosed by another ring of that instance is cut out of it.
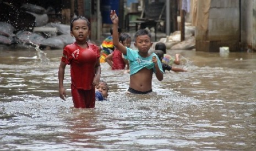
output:
<svg viewBox="0 0 256 151"><path fill-rule="evenodd" d="M119 36L119 42L122 43L125 47L130 47L131 39L129 34L121 33ZM106 57L106 61L108 65L111 66L112 70L118 69L127 69L129 70L129 62L128 60L124 59L123 54L118 49L115 49L113 53L109 54Z"/></svg>

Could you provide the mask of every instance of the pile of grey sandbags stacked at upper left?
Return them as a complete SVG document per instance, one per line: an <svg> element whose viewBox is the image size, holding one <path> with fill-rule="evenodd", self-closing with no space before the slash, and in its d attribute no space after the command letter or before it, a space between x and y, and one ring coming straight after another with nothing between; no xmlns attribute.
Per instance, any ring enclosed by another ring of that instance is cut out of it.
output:
<svg viewBox="0 0 256 151"><path fill-rule="evenodd" d="M35 17L33 18L35 24L26 25L23 21L14 22L12 19L6 22L0 22L0 44L24 44L35 47L39 46L41 49L63 49L66 45L75 42L75 39L70 36L69 25L53 22L48 23L47 10L45 8L26 3L21 5L20 8L13 7L13 9L33 15ZM13 25L17 26L18 29ZM20 28L22 25L26 25L27 27ZM37 30L31 30L33 28L37 28ZM52 28L56 30L51 30Z"/></svg>

